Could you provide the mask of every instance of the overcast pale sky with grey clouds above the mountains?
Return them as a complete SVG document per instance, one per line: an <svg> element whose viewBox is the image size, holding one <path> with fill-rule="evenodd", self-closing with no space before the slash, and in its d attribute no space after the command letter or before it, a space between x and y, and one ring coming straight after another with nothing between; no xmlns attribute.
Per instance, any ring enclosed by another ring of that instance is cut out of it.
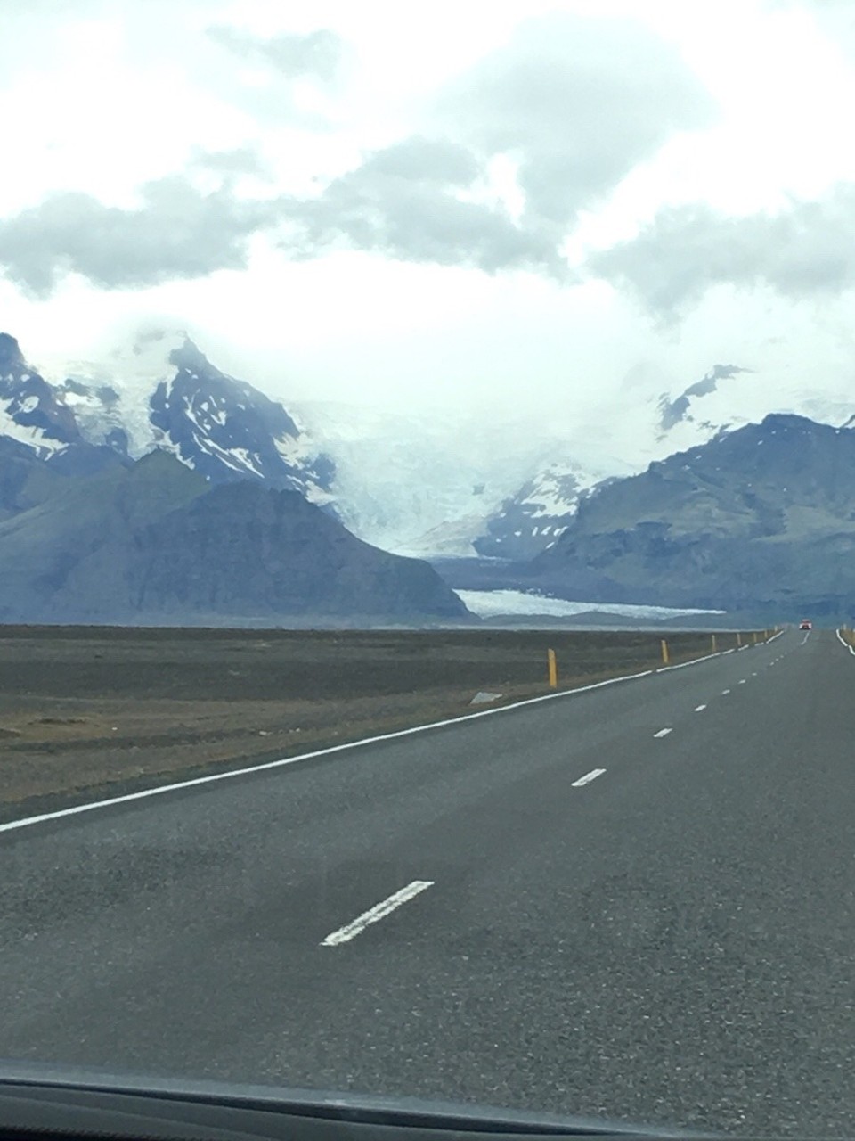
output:
<svg viewBox="0 0 855 1141"><path fill-rule="evenodd" d="M854 18L0 0L0 329L187 327L286 400L583 424L722 362L855 403Z"/></svg>

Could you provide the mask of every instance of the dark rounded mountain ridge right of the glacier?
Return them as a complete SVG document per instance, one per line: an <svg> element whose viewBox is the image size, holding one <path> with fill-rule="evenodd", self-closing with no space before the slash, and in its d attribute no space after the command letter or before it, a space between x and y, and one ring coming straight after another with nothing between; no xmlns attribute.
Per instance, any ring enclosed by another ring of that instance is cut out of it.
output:
<svg viewBox="0 0 855 1141"><path fill-rule="evenodd" d="M768 415L597 488L530 585L563 597L819 613L855 599L855 434Z"/></svg>

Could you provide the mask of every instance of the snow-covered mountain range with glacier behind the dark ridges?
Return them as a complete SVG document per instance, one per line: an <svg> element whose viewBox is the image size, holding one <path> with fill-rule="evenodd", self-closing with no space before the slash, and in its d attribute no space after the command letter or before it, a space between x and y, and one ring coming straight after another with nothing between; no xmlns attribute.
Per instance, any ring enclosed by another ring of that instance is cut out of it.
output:
<svg viewBox="0 0 855 1141"><path fill-rule="evenodd" d="M717 364L687 387L653 366L586 423L565 410L499 416L288 402L217 369L184 332L138 335L44 379L0 337L0 438L58 474L171 453L211 484L293 489L360 539L416 557L524 560L548 549L604 482L730 434L769 411L768 386ZM852 427L853 404L790 390L774 411ZM548 412L548 414L546 414ZM9 501L13 502L13 499Z"/></svg>

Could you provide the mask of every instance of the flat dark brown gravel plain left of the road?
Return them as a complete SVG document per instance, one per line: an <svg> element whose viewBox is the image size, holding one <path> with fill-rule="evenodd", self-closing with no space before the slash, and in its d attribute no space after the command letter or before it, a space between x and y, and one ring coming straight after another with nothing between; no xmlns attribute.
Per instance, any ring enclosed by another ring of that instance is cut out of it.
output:
<svg viewBox="0 0 855 1141"><path fill-rule="evenodd" d="M0 819L458 717L479 690L536 696L549 648L561 688L654 667L661 637L0 628ZM673 662L712 646L667 639Z"/></svg>

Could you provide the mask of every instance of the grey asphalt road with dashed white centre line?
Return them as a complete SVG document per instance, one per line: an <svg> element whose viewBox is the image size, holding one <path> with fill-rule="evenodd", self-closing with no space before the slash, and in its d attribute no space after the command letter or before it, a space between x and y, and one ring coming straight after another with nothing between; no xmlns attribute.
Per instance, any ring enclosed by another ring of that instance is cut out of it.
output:
<svg viewBox="0 0 855 1141"><path fill-rule="evenodd" d="M852 1135L855 657L803 640L7 826L0 1055Z"/></svg>

